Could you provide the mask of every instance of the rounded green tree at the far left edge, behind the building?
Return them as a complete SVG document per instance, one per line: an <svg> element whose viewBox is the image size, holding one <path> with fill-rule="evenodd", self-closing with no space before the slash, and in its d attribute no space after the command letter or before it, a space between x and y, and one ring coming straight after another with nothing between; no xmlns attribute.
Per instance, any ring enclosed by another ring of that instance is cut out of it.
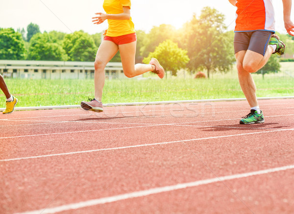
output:
<svg viewBox="0 0 294 214"><path fill-rule="evenodd" d="M25 42L22 34L12 28L0 30L0 60L24 60Z"/></svg>

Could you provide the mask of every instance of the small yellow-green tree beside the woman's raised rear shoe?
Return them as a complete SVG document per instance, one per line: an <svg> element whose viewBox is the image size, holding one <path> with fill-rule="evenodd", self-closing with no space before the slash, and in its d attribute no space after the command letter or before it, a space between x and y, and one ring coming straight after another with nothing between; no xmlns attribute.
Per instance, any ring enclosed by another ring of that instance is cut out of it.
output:
<svg viewBox="0 0 294 214"><path fill-rule="evenodd" d="M165 70L172 71L174 76L179 69L185 68L189 62L187 51L179 48L177 43L173 43L171 40L160 43L154 52L149 53L148 57L144 58L143 62L148 64L152 57L158 59Z"/></svg>

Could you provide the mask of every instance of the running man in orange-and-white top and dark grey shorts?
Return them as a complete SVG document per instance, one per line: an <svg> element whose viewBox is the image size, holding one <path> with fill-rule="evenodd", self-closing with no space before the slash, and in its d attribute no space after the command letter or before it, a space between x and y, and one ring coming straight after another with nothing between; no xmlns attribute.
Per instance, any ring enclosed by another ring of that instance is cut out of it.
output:
<svg viewBox="0 0 294 214"><path fill-rule="evenodd" d="M284 54L285 44L274 34L272 0L229 1L237 7L234 49L239 83L251 107L250 113L240 120L240 124L264 123L251 73L262 68L271 54ZM290 19L292 0L283 0L283 6L285 28L294 36L294 24Z"/></svg>

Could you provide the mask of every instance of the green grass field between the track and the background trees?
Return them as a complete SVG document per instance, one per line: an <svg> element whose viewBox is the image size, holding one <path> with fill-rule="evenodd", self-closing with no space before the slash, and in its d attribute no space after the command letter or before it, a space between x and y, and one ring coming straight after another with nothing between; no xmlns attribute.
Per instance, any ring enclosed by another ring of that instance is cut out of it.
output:
<svg viewBox="0 0 294 214"><path fill-rule="evenodd" d="M294 76L294 63L281 63L282 71ZM147 74L145 76L151 76ZM155 75L152 77L156 77ZM289 74L253 74L258 97L294 96L294 78ZM17 107L78 105L88 97L94 97L94 80L26 80L5 79L10 92L19 103ZM192 79L183 75L169 79L106 80L103 103L152 102L171 100L197 100L217 98L241 98L236 69L211 79ZM0 107L5 107L5 97L0 94Z"/></svg>

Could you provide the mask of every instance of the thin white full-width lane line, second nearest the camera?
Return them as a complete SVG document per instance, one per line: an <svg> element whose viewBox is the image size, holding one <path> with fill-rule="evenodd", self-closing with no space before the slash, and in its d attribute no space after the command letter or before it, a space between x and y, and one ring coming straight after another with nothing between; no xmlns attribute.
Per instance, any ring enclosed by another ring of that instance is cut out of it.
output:
<svg viewBox="0 0 294 214"><path fill-rule="evenodd" d="M96 152L96 151L123 150L123 149L158 146L158 145L166 145L166 144L174 144L174 143L191 142L191 141L218 139L218 138L225 138L225 137L244 136L244 135L249 135L249 134L261 134L261 133L270 133L270 132L276 132L276 131L292 131L292 130L294 130L294 128L291 128L291 129L278 129L278 130L270 130L270 131L260 131L260 132L251 132L251 133L243 133L243 134L231 134L231 135L215 136L215 137L194 138L194 139L189 139L189 140L178 140L178 141L169 141L169 142L152 143L152 144L140 144L140 145L134 145L134 146L115 147L115 148L98 149L98 150L73 151L73 152L46 154L46 155L38 155L38 156L31 156L31 157L2 159L2 160L0 160L0 162L15 161L15 160L26 160L26 159L43 158L43 157L53 157L53 156L61 156L61 155L71 155L71 154L82 154L82 153L89 153L89 152Z"/></svg>

